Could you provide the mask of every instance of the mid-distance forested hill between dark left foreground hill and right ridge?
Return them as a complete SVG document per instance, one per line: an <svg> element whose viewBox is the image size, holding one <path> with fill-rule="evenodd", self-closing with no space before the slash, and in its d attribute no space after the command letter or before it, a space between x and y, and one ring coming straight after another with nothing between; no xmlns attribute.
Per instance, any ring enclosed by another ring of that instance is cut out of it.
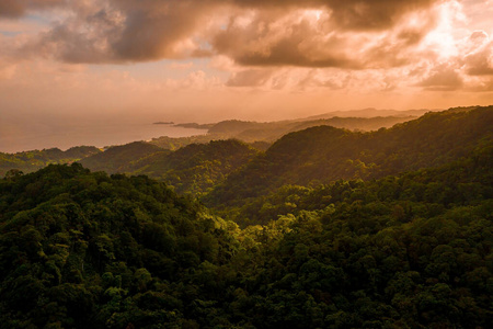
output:
<svg viewBox="0 0 493 329"><path fill-rule="evenodd" d="M94 171L146 174L164 181L179 193L198 195L222 182L257 154L234 139L191 144L174 151L136 141L112 147L79 162Z"/></svg>

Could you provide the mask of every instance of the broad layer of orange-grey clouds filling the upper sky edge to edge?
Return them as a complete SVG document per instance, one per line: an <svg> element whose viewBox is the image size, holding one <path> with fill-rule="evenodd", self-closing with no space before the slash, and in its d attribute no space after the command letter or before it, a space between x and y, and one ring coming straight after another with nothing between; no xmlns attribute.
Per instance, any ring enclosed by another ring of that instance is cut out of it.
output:
<svg viewBox="0 0 493 329"><path fill-rule="evenodd" d="M162 83L197 90L488 93L493 90L488 13L493 14L491 0L1 0L0 80L27 81L34 67L54 64L62 70L84 65L125 70L163 59L206 59L193 70L169 66L163 75L185 69L186 76L164 77ZM2 33L2 24L33 20L42 22L36 21L37 33Z"/></svg>

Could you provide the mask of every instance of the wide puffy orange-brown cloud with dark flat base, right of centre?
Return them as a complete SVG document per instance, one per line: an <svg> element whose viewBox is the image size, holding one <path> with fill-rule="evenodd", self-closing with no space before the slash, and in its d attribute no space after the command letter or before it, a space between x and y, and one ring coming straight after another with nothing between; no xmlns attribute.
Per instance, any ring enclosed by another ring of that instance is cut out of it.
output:
<svg viewBox="0 0 493 329"><path fill-rule="evenodd" d="M392 29L344 30L334 13L296 9L242 12L213 38L219 54L242 66L397 67L416 60L414 47L436 24L436 11L413 11Z"/></svg>

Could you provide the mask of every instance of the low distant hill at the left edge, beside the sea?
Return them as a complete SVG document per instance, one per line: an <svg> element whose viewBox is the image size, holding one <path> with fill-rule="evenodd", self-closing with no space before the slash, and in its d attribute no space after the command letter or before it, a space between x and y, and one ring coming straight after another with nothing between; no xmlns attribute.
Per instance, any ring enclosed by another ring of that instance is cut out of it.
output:
<svg viewBox="0 0 493 329"><path fill-rule="evenodd" d="M0 177L12 169L28 173L50 163L70 163L100 152L101 150L93 146L77 146L66 151L59 148L48 148L16 154L0 152Z"/></svg>

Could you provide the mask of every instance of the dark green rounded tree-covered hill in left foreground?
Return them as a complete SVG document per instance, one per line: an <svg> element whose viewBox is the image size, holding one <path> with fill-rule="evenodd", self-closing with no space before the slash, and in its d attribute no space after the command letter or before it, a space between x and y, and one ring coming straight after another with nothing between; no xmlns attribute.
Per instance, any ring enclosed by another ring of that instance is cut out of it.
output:
<svg viewBox="0 0 493 329"><path fill-rule="evenodd" d="M4 179L2 328L180 326L187 309L175 284L228 259L234 245L222 227L146 177L74 163Z"/></svg>

